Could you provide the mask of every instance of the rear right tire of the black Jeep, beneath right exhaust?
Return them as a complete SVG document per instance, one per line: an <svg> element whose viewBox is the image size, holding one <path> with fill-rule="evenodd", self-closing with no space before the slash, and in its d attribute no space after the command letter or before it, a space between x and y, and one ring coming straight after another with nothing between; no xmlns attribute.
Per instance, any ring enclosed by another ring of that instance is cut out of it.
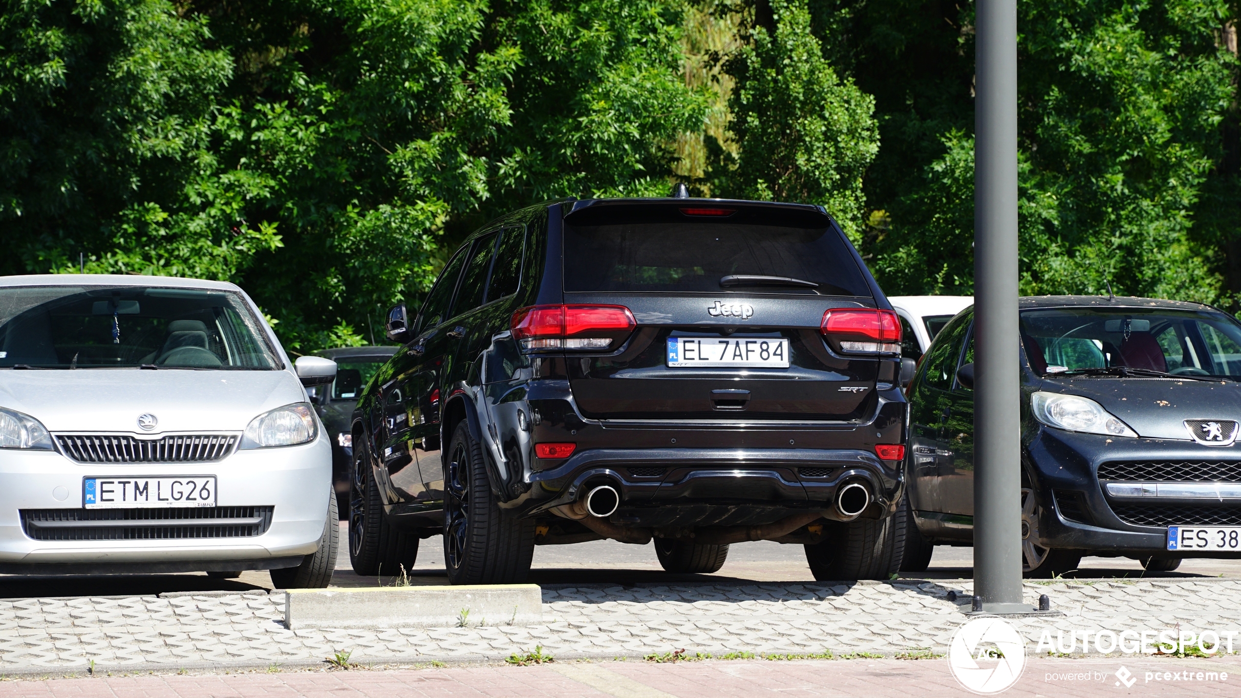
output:
<svg viewBox="0 0 1241 698"><path fill-rule="evenodd" d="M805 562L819 581L891 579L905 557L906 508L879 521L829 521L827 539L805 546Z"/></svg>

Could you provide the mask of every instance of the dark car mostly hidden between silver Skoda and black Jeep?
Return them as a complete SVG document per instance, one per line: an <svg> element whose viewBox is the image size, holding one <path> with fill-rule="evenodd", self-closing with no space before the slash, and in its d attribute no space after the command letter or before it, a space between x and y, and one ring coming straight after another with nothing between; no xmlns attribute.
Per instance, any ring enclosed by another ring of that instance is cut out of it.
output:
<svg viewBox="0 0 1241 698"><path fill-rule="evenodd" d="M354 461L354 408L371 376L396 353L395 346L343 347L314 352L336 362L330 386L308 388L310 402L331 441L331 477L341 517L349 516L349 464Z"/></svg>

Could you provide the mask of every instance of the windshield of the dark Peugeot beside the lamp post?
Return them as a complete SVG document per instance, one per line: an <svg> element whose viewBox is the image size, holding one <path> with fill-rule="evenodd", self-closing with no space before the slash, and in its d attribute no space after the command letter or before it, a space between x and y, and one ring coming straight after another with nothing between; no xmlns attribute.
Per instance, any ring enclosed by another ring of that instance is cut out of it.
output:
<svg viewBox="0 0 1241 698"><path fill-rule="evenodd" d="M1044 374L1126 369L1241 377L1241 325L1221 312L1059 307L1021 311L1031 368Z"/></svg>

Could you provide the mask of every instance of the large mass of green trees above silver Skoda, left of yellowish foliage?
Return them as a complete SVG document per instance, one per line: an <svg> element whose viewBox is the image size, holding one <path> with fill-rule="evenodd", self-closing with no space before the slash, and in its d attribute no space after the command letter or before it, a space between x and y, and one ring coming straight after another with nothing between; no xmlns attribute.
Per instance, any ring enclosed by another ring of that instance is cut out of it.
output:
<svg viewBox="0 0 1241 698"><path fill-rule="evenodd" d="M663 192L676 0L43 0L0 16L4 272L230 279L309 351L557 196Z"/></svg>

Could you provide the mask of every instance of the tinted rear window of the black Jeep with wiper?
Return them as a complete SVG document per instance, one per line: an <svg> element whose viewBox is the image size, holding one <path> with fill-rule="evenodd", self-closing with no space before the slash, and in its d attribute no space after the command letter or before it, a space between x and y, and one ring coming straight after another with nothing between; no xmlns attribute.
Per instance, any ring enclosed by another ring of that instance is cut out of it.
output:
<svg viewBox="0 0 1241 698"><path fill-rule="evenodd" d="M721 286L720 279L732 274L819 286ZM565 290L871 295L853 250L834 229L722 221L566 224Z"/></svg>

